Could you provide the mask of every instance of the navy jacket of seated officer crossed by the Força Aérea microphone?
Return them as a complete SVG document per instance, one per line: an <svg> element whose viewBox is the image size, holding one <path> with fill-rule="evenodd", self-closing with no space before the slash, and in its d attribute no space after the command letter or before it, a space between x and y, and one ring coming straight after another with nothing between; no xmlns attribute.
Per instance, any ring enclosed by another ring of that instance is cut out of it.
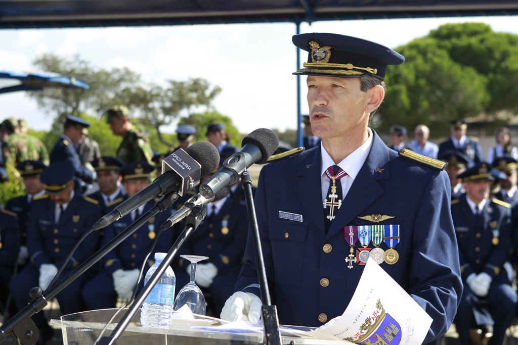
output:
<svg viewBox="0 0 518 345"><path fill-rule="evenodd" d="M154 200L148 201L144 207L144 213L148 212L151 207L155 204ZM143 213L143 214L144 214ZM143 215L142 214L142 215ZM111 275L117 269L121 268L124 270L135 269L141 267L146 255L151 249L154 238L150 237L150 232L154 232L156 236L160 230L162 224L171 215L170 208L164 212L158 213L155 217L151 218L147 224L141 226L135 231L130 237L126 238L120 245L115 249L106 254L103 258L104 267ZM131 219L131 213L122 217L118 221L110 224L104 229L104 236L101 241L101 245L105 246L115 236L124 231L133 223ZM173 232L165 230L160 235L159 241L156 244L155 249L148 258L148 262L152 265L154 263L154 253L163 252L167 253L173 244ZM146 270L145 270L146 272Z"/></svg>

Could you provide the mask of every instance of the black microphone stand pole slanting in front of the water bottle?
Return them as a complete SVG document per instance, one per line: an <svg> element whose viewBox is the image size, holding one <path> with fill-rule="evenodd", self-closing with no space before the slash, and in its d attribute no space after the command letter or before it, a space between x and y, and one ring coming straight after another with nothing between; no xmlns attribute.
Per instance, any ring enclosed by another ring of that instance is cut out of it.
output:
<svg viewBox="0 0 518 345"><path fill-rule="evenodd" d="M131 307L128 308L121 321L119 321L119 324L113 329L110 336L102 337L98 342L99 345L117 344L117 339L119 339L119 337L122 335L127 325L130 324L138 309L142 303L146 301L146 298L151 293L151 290L153 290L155 284L160 280L167 267L171 264L172 260L175 259L178 250L183 246L186 239L198 228L199 223L202 222L202 220L207 215L207 211L207 206L205 205L194 207L193 212L188 217L186 217L185 229L180 234L175 244L172 245L162 263L149 278L146 286L142 289L142 291L140 291L139 295L135 298L135 301Z"/></svg>

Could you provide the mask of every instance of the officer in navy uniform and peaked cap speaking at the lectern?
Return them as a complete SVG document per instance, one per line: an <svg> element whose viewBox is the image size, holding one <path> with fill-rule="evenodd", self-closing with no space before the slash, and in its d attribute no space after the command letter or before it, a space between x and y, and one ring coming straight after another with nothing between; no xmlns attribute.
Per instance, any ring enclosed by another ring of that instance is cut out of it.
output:
<svg viewBox="0 0 518 345"><path fill-rule="evenodd" d="M337 34L295 35L293 42L309 52L305 68L295 74L308 76L311 127L322 145L267 164L255 193L279 322L319 326L341 316L365 267L354 256L361 242L344 231L392 225L372 237L376 243L368 237L362 242L378 247L370 252L376 249L380 267L434 320L425 338L432 341L448 331L462 293L445 164L393 151L368 127L385 95L387 65L401 64L404 57ZM391 243L394 237L397 243ZM248 236L238 292L221 317L256 322L262 305L257 283Z"/></svg>

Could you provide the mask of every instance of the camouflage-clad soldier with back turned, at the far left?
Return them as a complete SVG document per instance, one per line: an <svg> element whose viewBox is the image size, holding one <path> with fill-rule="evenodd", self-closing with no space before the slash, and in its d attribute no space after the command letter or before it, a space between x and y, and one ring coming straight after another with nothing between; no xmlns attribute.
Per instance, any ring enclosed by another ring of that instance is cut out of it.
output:
<svg viewBox="0 0 518 345"><path fill-rule="evenodd" d="M6 129L11 133L6 142L11 149L11 156L15 159L14 163L18 164L24 160L39 160L48 164L49 153L47 148L38 138L26 134L26 122L22 122L22 125L25 124L22 129L14 119L7 119L7 121Z"/></svg>

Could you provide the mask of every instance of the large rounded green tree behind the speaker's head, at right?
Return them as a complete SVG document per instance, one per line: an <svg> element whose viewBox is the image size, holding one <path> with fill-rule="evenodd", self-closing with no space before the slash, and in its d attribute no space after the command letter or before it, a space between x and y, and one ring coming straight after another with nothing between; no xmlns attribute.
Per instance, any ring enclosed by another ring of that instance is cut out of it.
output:
<svg viewBox="0 0 518 345"><path fill-rule="evenodd" d="M405 63L389 67L380 131L393 124L447 135L448 120L518 107L518 36L481 23L446 24L396 48Z"/></svg>

